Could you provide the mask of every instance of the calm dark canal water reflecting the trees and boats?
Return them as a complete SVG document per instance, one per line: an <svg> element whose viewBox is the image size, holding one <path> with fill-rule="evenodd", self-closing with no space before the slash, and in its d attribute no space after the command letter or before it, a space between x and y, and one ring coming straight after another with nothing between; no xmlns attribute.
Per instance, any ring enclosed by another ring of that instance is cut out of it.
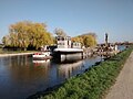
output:
<svg viewBox="0 0 133 99"><path fill-rule="evenodd" d="M32 61L31 55L0 57L0 99L25 99L84 73L100 61L101 57L92 56L75 63L57 64Z"/></svg>

